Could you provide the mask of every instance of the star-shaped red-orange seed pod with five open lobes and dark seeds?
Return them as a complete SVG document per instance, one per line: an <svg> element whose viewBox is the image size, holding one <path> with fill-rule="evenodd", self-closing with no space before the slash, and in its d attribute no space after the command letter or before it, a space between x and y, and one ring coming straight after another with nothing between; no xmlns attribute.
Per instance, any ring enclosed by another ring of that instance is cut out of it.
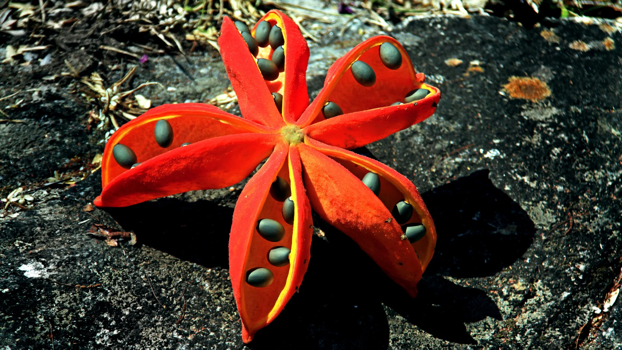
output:
<svg viewBox="0 0 622 350"><path fill-rule="evenodd" d="M283 310L310 259L311 210L350 236L411 295L436 242L406 177L348 151L434 113L437 88L393 38L365 40L330 67L309 105L309 48L270 11L249 29L223 20L218 40L244 118L201 103L162 105L111 136L98 207L218 189L251 177L233 212L229 259L245 343Z"/></svg>

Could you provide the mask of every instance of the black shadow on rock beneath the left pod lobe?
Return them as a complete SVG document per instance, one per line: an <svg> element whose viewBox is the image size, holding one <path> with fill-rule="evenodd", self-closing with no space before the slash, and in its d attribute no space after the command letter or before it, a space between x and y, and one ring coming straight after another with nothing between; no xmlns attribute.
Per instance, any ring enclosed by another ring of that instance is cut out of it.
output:
<svg viewBox="0 0 622 350"><path fill-rule="evenodd" d="M139 244L205 267L229 267L231 208L160 198L106 211L124 230L133 230Z"/></svg>

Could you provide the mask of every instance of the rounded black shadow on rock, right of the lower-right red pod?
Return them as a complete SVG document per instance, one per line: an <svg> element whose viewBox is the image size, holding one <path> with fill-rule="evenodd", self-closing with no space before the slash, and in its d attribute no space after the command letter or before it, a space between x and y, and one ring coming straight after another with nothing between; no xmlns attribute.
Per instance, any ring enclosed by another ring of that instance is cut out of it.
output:
<svg viewBox="0 0 622 350"><path fill-rule="evenodd" d="M427 273L485 277L512 265L531 245L527 212L488 179L488 170L461 177L422 197L437 230Z"/></svg>

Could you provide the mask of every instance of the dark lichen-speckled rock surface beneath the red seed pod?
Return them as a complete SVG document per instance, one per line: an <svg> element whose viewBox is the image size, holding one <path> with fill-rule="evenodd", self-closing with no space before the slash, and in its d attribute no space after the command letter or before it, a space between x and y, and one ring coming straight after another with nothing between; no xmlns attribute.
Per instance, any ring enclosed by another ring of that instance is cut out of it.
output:
<svg viewBox="0 0 622 350"><path fill-rule="evenodd" d="M314 29L321 42L310 43L311 97L335 59L378 34L348 25L343 36L337 25ZM600 329L582 328L622 266L622 58L598 45L621 42L620 32L573 21L528 30L496 17L428 17L390 34L444 97L428 120L368 145L414 182L437 225L418 298L317 219L300 293L245 345L227 270L244 181L85 212L101 191L98 171L33 192L33 209L0 219L0 346L563 349L578 339L585 349L622 348L619 303ZM571 49L575 40L592 49ZM445 64L452 58L463 63ZM177 62L192 82L170 69L168 56L139 69L136 82L165 87L144 93L154 104L205 101L228 85L218 57ZM538 78L550 96L511 98L504 85L513 76ZM84 127L87 106L69 90L43 83L11 111L26 123L0 124L3 197L56 169L77 171L102 151L101 133ZM85 234L94 222L133 230L138 244L109 247Z"/></svg>

